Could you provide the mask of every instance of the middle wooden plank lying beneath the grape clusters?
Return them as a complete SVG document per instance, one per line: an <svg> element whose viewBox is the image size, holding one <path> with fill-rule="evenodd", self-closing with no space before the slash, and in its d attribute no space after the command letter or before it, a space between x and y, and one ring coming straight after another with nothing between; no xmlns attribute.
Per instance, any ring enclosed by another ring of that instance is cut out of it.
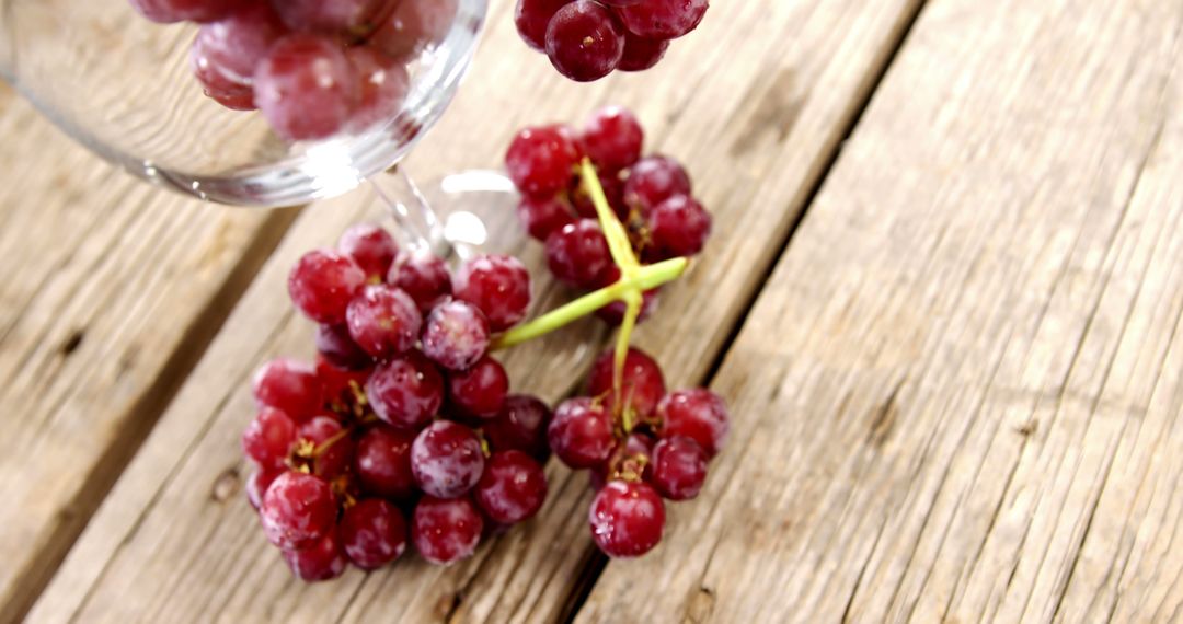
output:
<svg viewBox="0 0 1183 624"><path fill-rule="evenodd" d="M736 6L709 17L654 72L595 85L557 79L525 50L512 31L510 5L496 4L473 76L411 170L432 177L489 167L522 124L577 119L608 98L634 106L651 145L687 162L717 215L716 242L685 284L665 293L667 312L644 331L645 346L668 364L671 382L702 376L917 4ZM504 117L490 123L490 110ZM594 550L584 476L557 466L549 469L555 495L542 516L472 560L451 568L405 561L368 577L350 572L328 586L293 583L241 501L245 467L235 440L252 411L248 372L270 355L310 350L310 327L291 313L283 275L299 253L330 242L366 214L364 203L347 199L302 216L91 521L33 622L509 622L561 613ZM530 253L537 266L536 245ZM510 353L518 388L556 398L578 383L578 372L549 370L552 360L535 355L530 347Z"/></svg>

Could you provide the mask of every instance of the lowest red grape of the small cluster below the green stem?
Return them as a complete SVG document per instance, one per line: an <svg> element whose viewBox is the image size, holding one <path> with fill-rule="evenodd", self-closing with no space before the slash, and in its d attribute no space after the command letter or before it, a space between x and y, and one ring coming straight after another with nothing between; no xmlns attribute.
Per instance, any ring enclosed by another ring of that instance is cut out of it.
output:
<svg viewBox="0 0 1183 624"><path fill-rule="evenodd" d="M646 483L610 481L595 495L588 513L592 538L608 557L640 557L661 541L665 505Z"/></svg>

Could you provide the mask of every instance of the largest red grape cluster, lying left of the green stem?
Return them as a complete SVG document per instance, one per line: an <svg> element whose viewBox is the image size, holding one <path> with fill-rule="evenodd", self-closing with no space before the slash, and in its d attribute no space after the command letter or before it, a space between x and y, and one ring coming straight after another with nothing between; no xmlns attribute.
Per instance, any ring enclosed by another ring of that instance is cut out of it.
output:
<svg viewBox="0 0 1183 624"><path fill-rule="evenodd" d="M509 394L487 353L530 304L518 260L478 256L452 274L361 225L305 254L289 293L318 324L317 360L257 372L243 449L257 464L247 496L297 577L387 565L408 535L452 564L538 512L551 414Z"/></svg>

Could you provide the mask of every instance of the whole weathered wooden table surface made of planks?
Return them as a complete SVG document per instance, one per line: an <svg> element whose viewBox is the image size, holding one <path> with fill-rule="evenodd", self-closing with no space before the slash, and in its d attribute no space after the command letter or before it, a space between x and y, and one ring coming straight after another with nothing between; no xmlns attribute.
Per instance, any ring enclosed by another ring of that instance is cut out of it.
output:
<svg viewBox="0 0 1183 624"><path fill-rule="evenodd" d="M201 206L0 91L0 620L1183 618L1183 2L716 5L575 85L494 2L409 163L614 102L693 173L716 235L639 342L735 429L635 561L551 462L473 559L293 581L243 500L247 378L309 355L283 277L371 202Z"/></svg>

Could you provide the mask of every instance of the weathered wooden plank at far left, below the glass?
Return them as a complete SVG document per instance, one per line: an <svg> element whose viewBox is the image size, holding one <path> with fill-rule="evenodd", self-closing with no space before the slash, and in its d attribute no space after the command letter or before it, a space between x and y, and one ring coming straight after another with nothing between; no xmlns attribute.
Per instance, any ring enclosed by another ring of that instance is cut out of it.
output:
<svg viewBox="0 0 1183 624"><path fill-rule="evenodd" d="M26 610L290 221L155 189L0 85L0 620Z"/></svg>

